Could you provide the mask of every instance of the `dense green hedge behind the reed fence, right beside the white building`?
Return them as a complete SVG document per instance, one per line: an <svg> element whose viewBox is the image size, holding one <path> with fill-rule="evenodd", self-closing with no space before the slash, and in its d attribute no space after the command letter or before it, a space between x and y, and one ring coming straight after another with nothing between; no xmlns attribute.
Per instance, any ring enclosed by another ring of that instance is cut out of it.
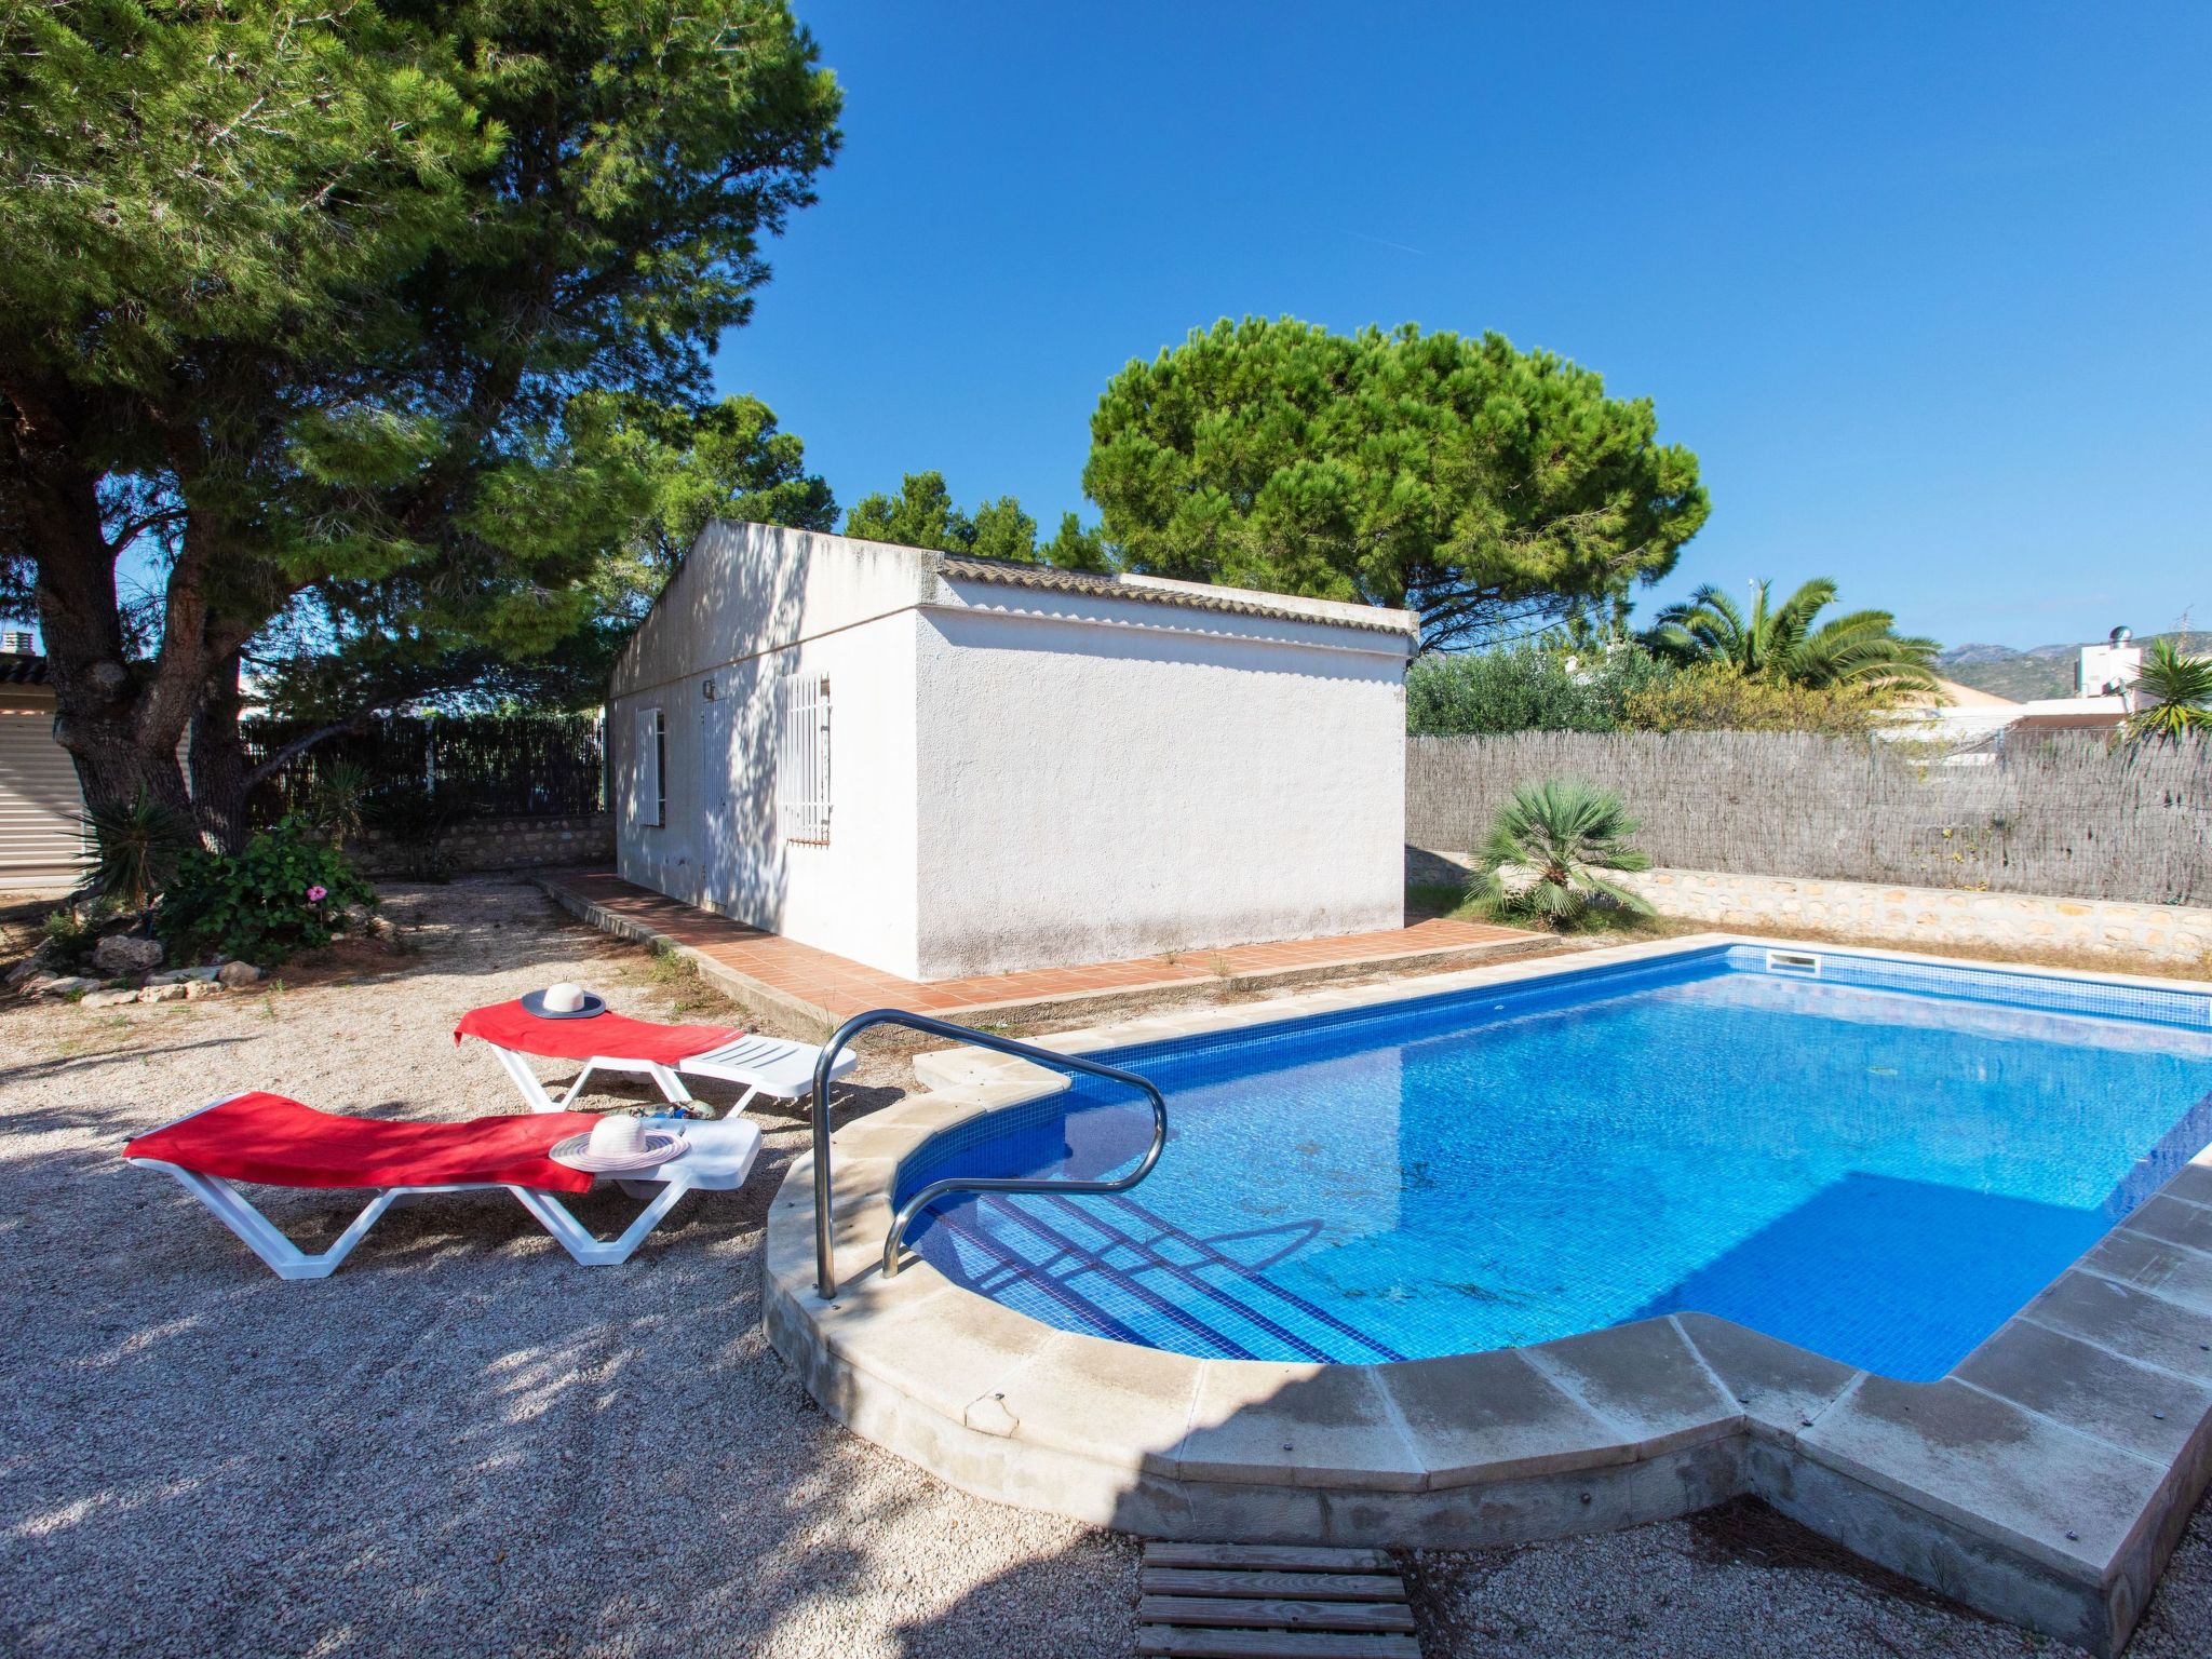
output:
<svg viewBox="0 0 2212 1659"><path fill-rule="evenodd" d="M1544 646L1422 657L1405 675L1413 737L1617 732L1626 699L1668 668L1637 648L1564 655Z"/></svg>

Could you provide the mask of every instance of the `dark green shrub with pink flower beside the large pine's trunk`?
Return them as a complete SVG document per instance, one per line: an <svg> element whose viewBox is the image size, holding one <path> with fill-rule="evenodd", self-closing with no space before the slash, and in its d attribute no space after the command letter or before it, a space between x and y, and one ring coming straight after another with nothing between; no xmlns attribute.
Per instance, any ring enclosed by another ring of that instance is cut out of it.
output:
<svg viewBox="0 0 2212 1659"><path fill-rule="evenodd" d="M173 951L270 969L294 951L330 945L349 907L376 907L376 889L336 847L285 818L246 852L190 852L161 894L155 931Z"/></svg>

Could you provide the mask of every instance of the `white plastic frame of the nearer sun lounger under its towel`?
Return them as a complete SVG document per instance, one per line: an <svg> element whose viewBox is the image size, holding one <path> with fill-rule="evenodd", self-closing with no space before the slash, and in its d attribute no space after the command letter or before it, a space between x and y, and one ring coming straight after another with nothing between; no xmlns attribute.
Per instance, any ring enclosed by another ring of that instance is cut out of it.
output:
<svg viewBox="0 0 2212 1659"><path fill-rule="evenodd" d="M188 1117L199 1117L199 1113L212 1110L237 1095L223 1095L221 1099L210 1099L199 1110L190 1110L184 1117L170 1119L170 1124L181 1124ZM164 1124L161 1128L170 1128ZM701 1126L686 1126L692 1133ZM743 1128L752 1128L745 1124ZM706 1157L695 1168L684 1168L690 1155L677 1159L675 1164L655 1170L653 1181L626 1179L622 1190L633 1199L646 1197L648 1186L657 1186L659 1192L653 1201L637 1214L637 1219L624 1228L617 1239L597 1239L582 1221L577 1221L568 1206L560 1201L553 1192L540 1192L538 1188L513 1186L509 1181L456 1181L456 1183L434 1183L434 1186L387 1186L378 1188L376 1197L367 1201L361 1214L354 1217L352 1225L341 1232L332 1245L314 1256L292 1243L283 1230L254 1208L237 1181L221 1175L201 1175L199 1170L188 1170L181 1164L168 1164L157 1157L135 1157L133 1164L142 1164L148 1170L166 1170L177 1177L177 1183L199 1199L208 1210L230 1228L239 1241L252 1250L261 1261L268 1263L270 1272L279 1279L330 1279L338 1272L338 1265L354 1254L369 1228L383 1219L400 1199L416 1199L429 1192L498 1192L507 1190L515 1194L515 1203L531 1212L531 1217L542 1225L553 1239L584 1267L615 1267L630 1259L630 1254L646 1241L661 1219L677 1206L686 1192L695 1190L728 1190L741 1186L745 1172L752 1168L752 1159L761 1150L759 1130L752 1130L748 1144L723 1152L721 1157ZM294 1190L327 1190L345 1192L358 1188L294 1188Z"/></svg>

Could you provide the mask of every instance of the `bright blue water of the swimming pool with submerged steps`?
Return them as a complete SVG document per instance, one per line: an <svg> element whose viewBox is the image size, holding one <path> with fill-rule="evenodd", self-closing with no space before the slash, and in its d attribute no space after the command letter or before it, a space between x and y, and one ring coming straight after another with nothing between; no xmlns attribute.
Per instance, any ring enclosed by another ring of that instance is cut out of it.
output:
<svg viewBox="0 0 2212 1659"><path fill-rule="evenodd" d="M1051 1325L1228 1358L1699 1310L1931 1380L2212 1141L2201 993L1745 947L1102 1057L1168 1095L1141 1186L947 1199L914 1243ZM1148 1135L1086 1079L931 1141L902 1194L1108 1175Z"/></svg>

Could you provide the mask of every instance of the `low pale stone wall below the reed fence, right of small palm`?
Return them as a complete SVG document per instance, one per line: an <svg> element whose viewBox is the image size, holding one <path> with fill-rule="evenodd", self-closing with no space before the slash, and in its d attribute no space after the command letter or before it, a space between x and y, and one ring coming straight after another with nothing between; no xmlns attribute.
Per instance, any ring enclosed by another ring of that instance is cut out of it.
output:
<svg viewBox="0 0 2212 1659"><path fill-rule="evenodd" d="M1792 925L1896 945L2017 945L2115 958L2203 964L2212 971L2212 909L2121 905L2035 894L1960 894L1858 880L1648 869L1617 876L1661 916L1787 936Z"/></svg>

